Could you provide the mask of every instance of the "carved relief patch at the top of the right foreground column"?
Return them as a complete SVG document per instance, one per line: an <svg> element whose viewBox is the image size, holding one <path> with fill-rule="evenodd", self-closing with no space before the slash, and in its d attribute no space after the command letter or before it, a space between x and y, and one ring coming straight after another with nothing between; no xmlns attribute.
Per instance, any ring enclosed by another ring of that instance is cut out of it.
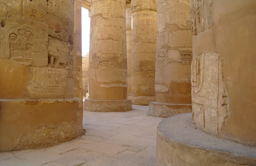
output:
<svg viewBox="0 0 256 166"><path fill-rule="evenodd" d="M212 0L192 0L191 6L192 34L197 35L213 24Z"/></svg>

